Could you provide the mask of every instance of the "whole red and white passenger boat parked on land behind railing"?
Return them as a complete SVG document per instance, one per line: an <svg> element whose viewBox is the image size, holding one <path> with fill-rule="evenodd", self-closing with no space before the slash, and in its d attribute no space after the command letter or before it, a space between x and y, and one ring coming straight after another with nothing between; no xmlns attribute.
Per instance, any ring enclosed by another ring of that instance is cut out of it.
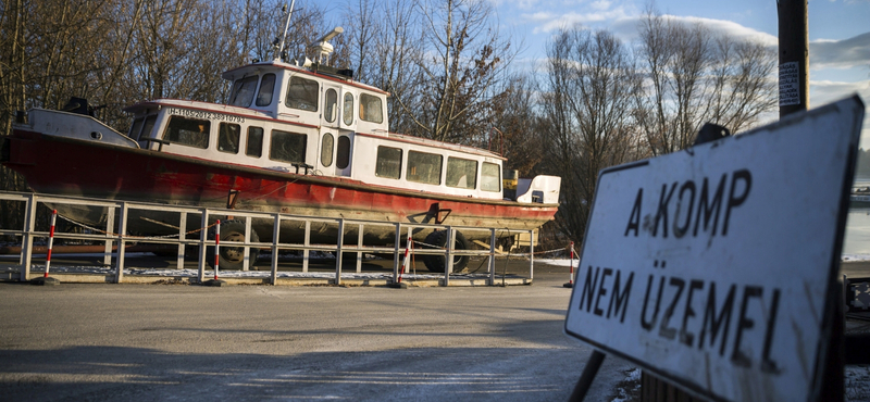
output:
<svg viewBox="0 0 870 402"><path fill-rule="evenodd" d="M232 83L225 104L133 104L124 109L133 115L126 133L95 118L85 99L74 98L60 111L18 113L12 135L0 142L0 162L22 174L32 190L51 194L506 230L535 229L554 218L559 177L517 179L494 151L390 133L389 93L322 63L332 51L328 40L341 32L312 45L321 55L316 63L288 61L279 49L274 60L223 73ZM85 224L107 218L104 209L64 206L59 213ZM130 216L128 228L177 234L177 219L142 212ZM395 241L391 227L364 231L366 243ZM221 226L222 239L244 239L244 233L238 221ZM337 235L334 225L311 233L311 241L334 242ZM272 234L271 221L254 219L251 241L272 241ZM303 234L301 223L282 223L282 240ZM352 230L346 236L356 242ZM413 236L439 247L447 241L445 230ZM488 237L458 233L453 246L468 249ZM224 249L220 266L241 266L233 256L240 254L224 255ZM456 260L455 268L467 261ZM425 262L444 269L443 256Z"/></svg>

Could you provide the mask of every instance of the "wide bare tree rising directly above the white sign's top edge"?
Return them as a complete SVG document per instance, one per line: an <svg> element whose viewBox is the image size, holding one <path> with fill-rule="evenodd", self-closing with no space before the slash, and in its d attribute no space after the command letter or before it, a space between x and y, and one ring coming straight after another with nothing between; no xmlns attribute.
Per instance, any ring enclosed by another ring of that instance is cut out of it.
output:
<svg viewBox="0 0 870 402"><path fill-rule="evenodd" d="M706 122L737 131L775 106L775 59L762 45L685 26L654 10L638 30L645 89L634 97L634 115L654 155L692 146Z"/></svg>

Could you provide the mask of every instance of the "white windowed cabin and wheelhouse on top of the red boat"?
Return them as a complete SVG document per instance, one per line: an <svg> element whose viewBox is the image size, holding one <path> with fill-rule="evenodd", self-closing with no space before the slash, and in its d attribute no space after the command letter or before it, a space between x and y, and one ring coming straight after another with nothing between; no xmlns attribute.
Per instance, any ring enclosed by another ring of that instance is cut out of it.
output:
<svg viewBox="0 0 870 402"><path fill-rule="evenodd" d="M233 81L225 105L158 99L125 109L135 114L128 137L144 149L235 165L504 197L500 155L390 134L388 93L355 83L345 72L269 61L231 70L223 78Z"/></svg>

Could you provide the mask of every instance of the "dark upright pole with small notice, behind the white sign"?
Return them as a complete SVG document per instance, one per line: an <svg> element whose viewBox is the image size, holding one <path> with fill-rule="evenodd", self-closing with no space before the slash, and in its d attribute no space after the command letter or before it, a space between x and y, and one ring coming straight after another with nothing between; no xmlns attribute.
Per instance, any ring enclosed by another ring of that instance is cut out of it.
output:
<svg viewBox="0 0 870 402"><path fill-rule="evenodd" d="M780 118L809 109L807 0L776 0L780 16Z"/></svg>

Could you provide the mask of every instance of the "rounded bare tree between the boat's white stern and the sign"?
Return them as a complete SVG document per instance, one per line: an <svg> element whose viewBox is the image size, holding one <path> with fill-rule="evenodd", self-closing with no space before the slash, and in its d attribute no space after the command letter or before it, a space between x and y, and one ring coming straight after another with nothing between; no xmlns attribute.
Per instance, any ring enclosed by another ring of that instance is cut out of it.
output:
<svg viewBox="0 0 870 402"><path fill-rule="evenodd" d="M606 30L563 29L547 52L542 131L549 169L562 176L557 224L582 241L598 172L637 158L625 111L639 79L629 49Z"/></svg>

